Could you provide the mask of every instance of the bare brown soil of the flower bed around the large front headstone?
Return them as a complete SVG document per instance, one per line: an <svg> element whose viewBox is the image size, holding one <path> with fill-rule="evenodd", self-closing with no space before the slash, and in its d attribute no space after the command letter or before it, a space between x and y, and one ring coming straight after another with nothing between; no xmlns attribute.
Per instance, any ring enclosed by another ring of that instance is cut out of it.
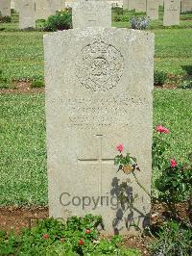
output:
<svg viewBox="0 0 192 256"><path fill-rule="evenodd" d="M187 203L178 204L177 210L179 216L184 221L190 221L192 217L192 208ZM165 204L154 204L152 207L152 228L159 226L162 222L170 218L169 211ZM48 218L48 208L16 208L16 207L0 207L0 230L19 233L22 228L31 227L36 224L36 219ZM125 236L124 246L137 248L142 255L149 256L150 252L148 244L154 240L150 236Z"/></svg>

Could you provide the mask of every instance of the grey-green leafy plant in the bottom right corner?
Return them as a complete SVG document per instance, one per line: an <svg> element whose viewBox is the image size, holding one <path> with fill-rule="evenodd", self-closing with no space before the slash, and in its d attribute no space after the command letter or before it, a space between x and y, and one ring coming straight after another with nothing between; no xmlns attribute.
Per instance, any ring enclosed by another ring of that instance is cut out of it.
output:
<svg viewBox="0 0 192 256"><path fill-rule="evenodd" d="M192 226L182 227L180 223L165 222L157 234L155 243L150 244L153 255L192 255Z"/></svg>

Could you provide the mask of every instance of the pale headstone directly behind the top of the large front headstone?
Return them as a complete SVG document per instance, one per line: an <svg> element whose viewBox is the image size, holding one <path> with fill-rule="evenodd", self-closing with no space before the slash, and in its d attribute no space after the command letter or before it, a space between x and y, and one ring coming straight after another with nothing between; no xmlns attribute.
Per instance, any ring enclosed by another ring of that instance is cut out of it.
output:
<svg viewBox="0 0 192 256"><path fill-rule="evenodd" d="M81 0L72 8L73 28L111 27L111 7L107 1Z"/></svg>

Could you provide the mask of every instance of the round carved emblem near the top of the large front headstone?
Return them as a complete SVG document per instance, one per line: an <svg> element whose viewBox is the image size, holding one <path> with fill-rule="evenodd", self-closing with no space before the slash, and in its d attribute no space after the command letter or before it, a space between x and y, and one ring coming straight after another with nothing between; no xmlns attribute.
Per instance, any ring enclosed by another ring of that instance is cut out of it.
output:
<svg viewBox="0 0 192 256"><path fill-rule="evenodd" d="M123 65L120 51L99 38L82 49L76 64L76 75L84 88L107 91L118 84Z"/></svg>

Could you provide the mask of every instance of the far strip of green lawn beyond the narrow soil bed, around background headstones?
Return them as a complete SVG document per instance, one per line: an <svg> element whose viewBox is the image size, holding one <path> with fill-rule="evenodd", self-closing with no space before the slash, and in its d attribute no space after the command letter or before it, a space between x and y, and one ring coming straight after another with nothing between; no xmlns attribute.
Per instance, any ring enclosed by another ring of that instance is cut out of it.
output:
<svg viewBox="0 0 192 256"><path fill-rule="evenodd" d="M162 28L162 10L160 19L153 21L148 31L156 35L155 67L168 74L192 74L192 29ZM124 12L129 18L135 13ZM140 14L138 14L140 15ZM112 15L114 19L114 13ZM181 21L192 27L192 14L181 14ZM38 23L38 22L37 22ZM18 16L13 14L12 23L0 24L0 29L15 30ZM129 21L113 22L116 27L129 27ZM43 32L0 32L0 70L3 76L11 79L43 78Z"/></svg>

